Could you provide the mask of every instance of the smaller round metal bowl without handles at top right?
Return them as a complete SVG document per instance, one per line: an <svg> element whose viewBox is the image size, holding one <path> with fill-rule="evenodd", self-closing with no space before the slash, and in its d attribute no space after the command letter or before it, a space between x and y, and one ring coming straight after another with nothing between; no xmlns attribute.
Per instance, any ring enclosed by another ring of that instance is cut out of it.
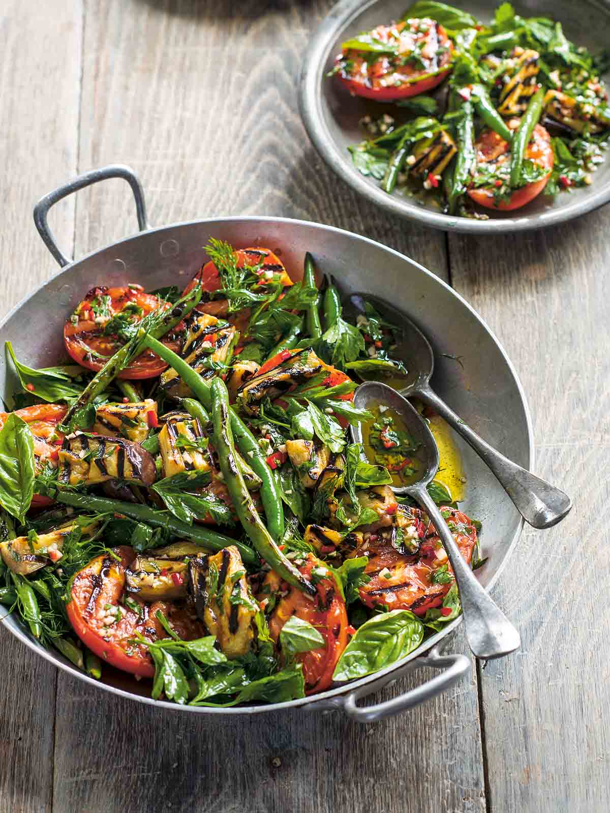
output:
<svg viewBox="0 0 610 813"><path fill-rule="evenodd" d="M470 11L478 20L490 20L495 3L485 0L451 0L451 5ZM560 21L566 36L578 45L597 52L608 46L610 30L610 0L570 0L547 2L514 2L523 16L549 16ZM381 190L377 180L361 175L351 162L349 145L362 141L359 120L363 115L379 116L396 108L363 98L351 97L337 80L326 78L333 67L341 43L348 37L370 30L380 23L397 20L409 6L408 0L341 0L323 20L312 37L305 54L299 80L298 100L307 133L316 150L356 192L377 203L393 215L451 232L491 234L521 232L543 228L571 220L593 211L610 201L610 162L607 160L595 172L591 186L561 193L555 200L543 194L516 212L490 213L490 220L471 220L455 215L443 215L438 209L425 207L413 198L392 195ZM608 75L606 76L608 78ZM481 210L482 211L482 210Z"/></svg>

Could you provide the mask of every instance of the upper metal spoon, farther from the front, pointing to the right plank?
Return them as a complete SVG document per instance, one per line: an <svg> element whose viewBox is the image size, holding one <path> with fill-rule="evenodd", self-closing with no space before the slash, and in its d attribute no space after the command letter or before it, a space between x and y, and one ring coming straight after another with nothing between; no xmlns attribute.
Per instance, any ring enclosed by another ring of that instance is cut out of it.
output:
<svg viewBox="0 0 610 813"><path fill-rule="evenodd" d="M500 454L434 392L430 386L430 378L434 372L434 352L420 329L401 311L368 293L351 294L345 303L345 310L351 311L351 316L365 315L364 302L370 302L381 315L387 315L402 331L395 355L407 365L407 377L404 385L399 388L399 393L404 398L420 398L472 446L494 472L500 485L514 502L516 510L533 528L551 528L563 520L572 508L572 501L566 493Z"/></svg>

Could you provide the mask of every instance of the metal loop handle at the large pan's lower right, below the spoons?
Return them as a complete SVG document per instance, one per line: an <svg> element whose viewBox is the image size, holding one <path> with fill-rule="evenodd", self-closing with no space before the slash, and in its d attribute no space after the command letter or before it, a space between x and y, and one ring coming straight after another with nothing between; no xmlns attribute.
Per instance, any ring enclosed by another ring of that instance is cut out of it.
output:
<svg viewBox="0 0 610 813"><path fill-rule="evenodd" d="M356 705L360 698L364 698L366 695L377 692L386 686L394 685L401 677L409 672L414 672L422 666L443 669L444 671L440 675L435 675L426 683L417 686L416 689L399 694L397 698L376 703L374 706L365 706L364 708ZM406 663L395 672L391 672L390 675L375 680L373 683L361 686L359 689L354 689L354 691L338 698L319 700L303 707L308 711L336 711L341 709L350 720L354 720L356 723L377 723L377 720L393 717L401 711L406 711L413 706L418 706L425 700L434 698L437 694L446 691L458 680L462 680L463 677L467 676L470 669L470 659L466 655L457 653L441 654L439 645L437 645L427 655Z"/></svg>

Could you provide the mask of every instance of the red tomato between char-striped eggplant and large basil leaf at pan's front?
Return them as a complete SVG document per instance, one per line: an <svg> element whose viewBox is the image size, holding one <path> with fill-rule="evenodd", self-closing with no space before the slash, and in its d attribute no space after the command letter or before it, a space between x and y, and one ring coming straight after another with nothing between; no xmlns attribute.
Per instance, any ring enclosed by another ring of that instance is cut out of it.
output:
<svg viewBox="0 0 610 813"><path fill-rule="evenodd" d="M307 560L299 570L309 579L312 568L320 566L324 567L319 559L307 554ZM316 598L295 587L290 588L290 593L277 603L269 619L269 632L274 641L278 640L281 628L292 615L308 621L325 639L326 646L296 656L303 663L306 694L328 689L338 659L347 646L347 611L334 579L321 579L316 587Z"/></svg>

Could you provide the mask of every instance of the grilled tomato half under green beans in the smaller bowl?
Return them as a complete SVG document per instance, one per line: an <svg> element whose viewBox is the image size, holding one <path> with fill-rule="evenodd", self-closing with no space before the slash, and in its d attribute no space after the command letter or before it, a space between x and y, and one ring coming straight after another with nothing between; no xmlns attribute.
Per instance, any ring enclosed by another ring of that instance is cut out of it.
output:
<svg viewBox="0 0 610 813"><path fill-rule="evenodd" d="M484 130L478 138L477 144L477 163L481 164L495 164L498 166L501 163L510 161L510 146L508 141L495 133L493 130ZM551 136L547 130L542 127L542 124L536 124L534 133L532 133L531 141L525 150L525 158L538 163L541 167L548 169L546 176L540 180L534 180L531 184L522 186L521 189L516 189L508 200L496 201L494 197L494 188L481 186L479 189L468 189L468 195L473 198L473 201L478 203L479 206L486 209L495 209L495 211L512 211L513 209L521 209L529 201L534 200L547 185L551 177L551 169L553 168L553 149L551 147Z"/></svg>

